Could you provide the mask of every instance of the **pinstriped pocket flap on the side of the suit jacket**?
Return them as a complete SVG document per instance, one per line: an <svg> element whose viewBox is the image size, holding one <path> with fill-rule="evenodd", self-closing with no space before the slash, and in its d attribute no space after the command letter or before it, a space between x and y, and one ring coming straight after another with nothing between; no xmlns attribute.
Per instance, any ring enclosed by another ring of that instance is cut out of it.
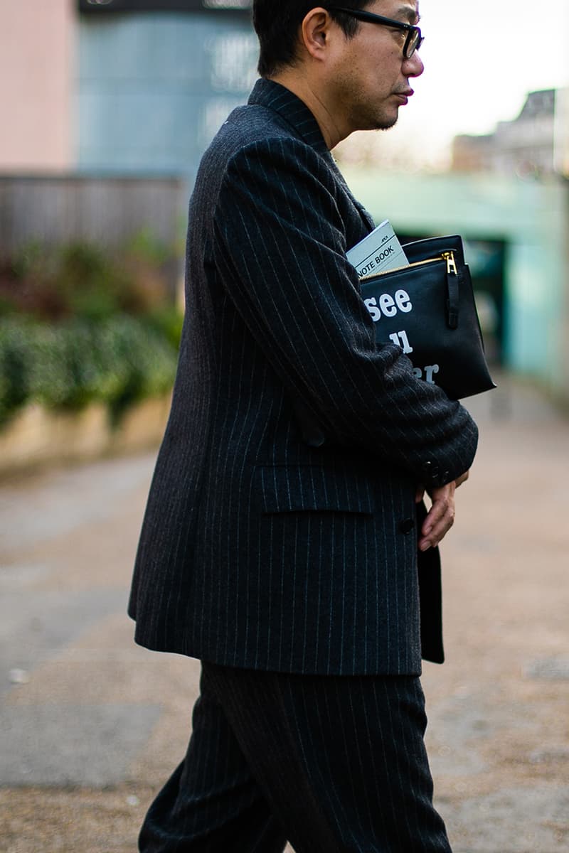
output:
<svg viewBox="0 0 569 853"><path fill-rule="evenodd" d="M255 477L265 513L374 511L369 480L363 475L316 465L266 465L257 467Z"/></svg>

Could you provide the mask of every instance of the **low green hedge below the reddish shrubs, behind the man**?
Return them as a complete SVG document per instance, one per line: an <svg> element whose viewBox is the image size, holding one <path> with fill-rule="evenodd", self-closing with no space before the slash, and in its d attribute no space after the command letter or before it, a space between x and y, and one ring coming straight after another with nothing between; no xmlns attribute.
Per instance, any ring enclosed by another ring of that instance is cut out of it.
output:
<svg viewBox="0 0 569 853"><path fill-rule="evenodd" d="M180 318L162 310L98 322L49 324L14 314L0 319L0 424L25 403L81 409L107 403L119 417L131 403L171 389Z"/></svg>

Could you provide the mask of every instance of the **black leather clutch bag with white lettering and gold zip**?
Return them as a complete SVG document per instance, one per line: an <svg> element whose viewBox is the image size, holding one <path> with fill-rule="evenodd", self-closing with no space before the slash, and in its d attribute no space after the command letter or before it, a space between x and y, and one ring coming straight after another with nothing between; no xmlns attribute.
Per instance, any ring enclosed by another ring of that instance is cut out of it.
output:
<svg viewBox="0 0 569 853"><path fill-rule="evenodd" d="M461 237L407 243L404 252L409 266L360 279L375 339L401 346L415 375L452 399L495 388Z"/></svg>

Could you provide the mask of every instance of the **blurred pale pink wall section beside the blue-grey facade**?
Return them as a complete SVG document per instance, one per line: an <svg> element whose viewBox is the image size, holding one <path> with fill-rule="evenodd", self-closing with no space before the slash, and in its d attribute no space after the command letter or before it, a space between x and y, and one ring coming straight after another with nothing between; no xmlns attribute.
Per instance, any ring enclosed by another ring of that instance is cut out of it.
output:
<svg viewBox="0 0 569 853"><path fill-rule="evenodd" d="M72 165L74 0L0 0L0 171Z"/></svg>

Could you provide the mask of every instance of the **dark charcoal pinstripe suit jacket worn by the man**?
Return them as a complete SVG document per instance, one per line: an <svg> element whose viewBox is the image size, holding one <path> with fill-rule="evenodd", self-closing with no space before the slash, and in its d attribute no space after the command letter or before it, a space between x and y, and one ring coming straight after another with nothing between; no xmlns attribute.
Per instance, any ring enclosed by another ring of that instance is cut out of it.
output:
<svg viewBox="0 0 569 853"><path fill-rule="evenodd" d="M415 484L470 467L465 409L378 347L346 249L373 227L305 105L259 80L206 152L130 613L142 645L305 673L421 671ZM442 659L438 554L422 652Z"/></svg>

